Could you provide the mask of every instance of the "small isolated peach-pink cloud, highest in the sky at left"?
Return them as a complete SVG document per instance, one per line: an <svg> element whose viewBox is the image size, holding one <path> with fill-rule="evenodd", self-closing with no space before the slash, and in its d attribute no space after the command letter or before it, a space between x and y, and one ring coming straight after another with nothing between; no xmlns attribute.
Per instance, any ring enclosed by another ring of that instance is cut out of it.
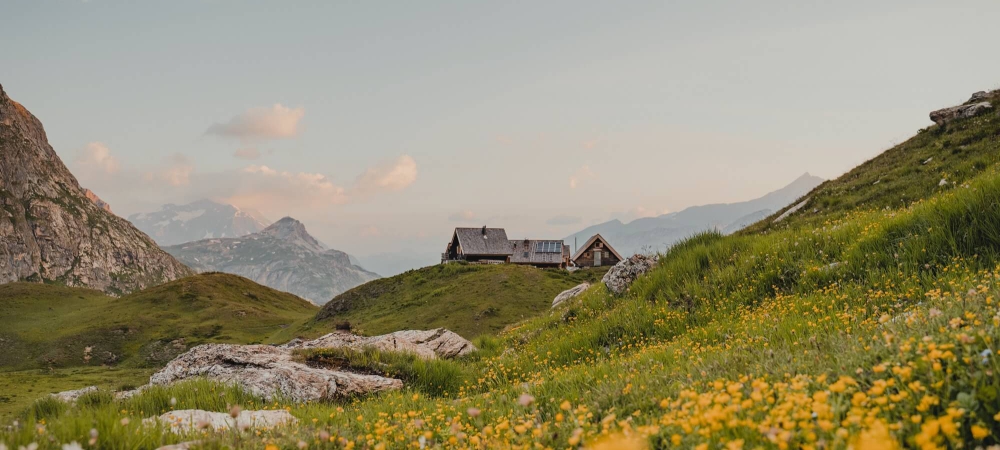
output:
<svg viewBox="0 0 1000 450"><path fill-rule="evenodd" d="M250 108L226 123L212 124L205 133L243 140L292 138L298 136L299 121L305 115L301 107L276 103L270 108Z"/></svg>

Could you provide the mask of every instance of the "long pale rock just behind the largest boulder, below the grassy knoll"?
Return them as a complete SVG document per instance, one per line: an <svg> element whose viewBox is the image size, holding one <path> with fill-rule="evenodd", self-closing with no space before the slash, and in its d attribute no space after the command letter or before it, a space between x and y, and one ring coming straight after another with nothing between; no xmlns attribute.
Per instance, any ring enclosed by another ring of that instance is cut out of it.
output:
<svg viewBox="0 0 1000 450"><path fill-rule="evenodd" d="M404 330L381 336L358 336L330 333L311 341L293 340L282 348L376 348L384 351L410 352L424 359L456 358L476 351L467 339L446 330Z"/></svg>

